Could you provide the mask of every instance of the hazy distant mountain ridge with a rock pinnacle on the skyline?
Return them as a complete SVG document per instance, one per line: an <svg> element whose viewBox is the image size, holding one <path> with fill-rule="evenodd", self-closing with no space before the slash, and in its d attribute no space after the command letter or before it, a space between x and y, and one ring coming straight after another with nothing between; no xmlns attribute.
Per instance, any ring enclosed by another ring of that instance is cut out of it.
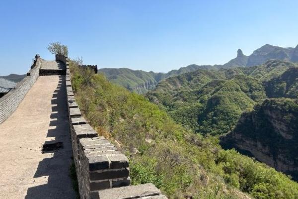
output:
<svg viewBox="0 0 298 199"><path fill-rule="evenodd" d="M145 94L155 88L161 80L181 75L183 73L193 72L198 69L219 70L221 68L253 67L262 65L268 60L281 60L298 62L298 45L296 48L282 48L266 44L255 50L251 55L246 56L241 49L237 51L237 57L224 65L189 65L178 70L171 70L168 73L146 72L142 70L131 70L128 68L103 68L98 71L103 73L108 80L127 88L132 92ZM253 72L252 72L253 73ZM266 74L266 71L264 71ZM267 76L267 75L266 75Z"/></svg>

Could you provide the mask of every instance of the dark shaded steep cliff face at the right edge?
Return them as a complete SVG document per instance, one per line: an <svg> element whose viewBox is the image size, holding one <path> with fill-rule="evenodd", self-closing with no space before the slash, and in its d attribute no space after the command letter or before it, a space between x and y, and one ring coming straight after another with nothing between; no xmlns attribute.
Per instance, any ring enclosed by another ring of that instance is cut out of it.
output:
<svg viewBox="0 0 298 199"><path fill-rule="evenodd" d="M298 100L268 99L256 105L221 137L221 145L255 157L298 181Z"/></svg>

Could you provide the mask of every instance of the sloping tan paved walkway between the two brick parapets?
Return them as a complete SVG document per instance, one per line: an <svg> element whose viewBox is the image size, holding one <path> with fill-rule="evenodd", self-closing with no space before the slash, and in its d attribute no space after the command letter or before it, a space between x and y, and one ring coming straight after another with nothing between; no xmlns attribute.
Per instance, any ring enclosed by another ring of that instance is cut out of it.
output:
<svg viewBox="0 0 298 199"><path fill-rule="evenodd" d="M40 76L0 124L0 199L75 199L62 85L65 76Z"/></svg>

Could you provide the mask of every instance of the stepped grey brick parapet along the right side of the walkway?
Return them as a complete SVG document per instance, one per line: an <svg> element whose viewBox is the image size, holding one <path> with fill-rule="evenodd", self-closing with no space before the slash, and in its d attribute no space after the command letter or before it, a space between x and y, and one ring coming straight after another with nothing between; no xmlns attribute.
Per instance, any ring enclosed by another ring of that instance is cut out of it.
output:
<svg viewBox="0 0 298 199"><path fill-rule="evenodd" d="M58 58L58 61L64 60ZM80 199L166 199L153 184L129 186L128 158L110 141L98 136L83 118L74 98L69 60L65 60L71 142Z"/></svg>

